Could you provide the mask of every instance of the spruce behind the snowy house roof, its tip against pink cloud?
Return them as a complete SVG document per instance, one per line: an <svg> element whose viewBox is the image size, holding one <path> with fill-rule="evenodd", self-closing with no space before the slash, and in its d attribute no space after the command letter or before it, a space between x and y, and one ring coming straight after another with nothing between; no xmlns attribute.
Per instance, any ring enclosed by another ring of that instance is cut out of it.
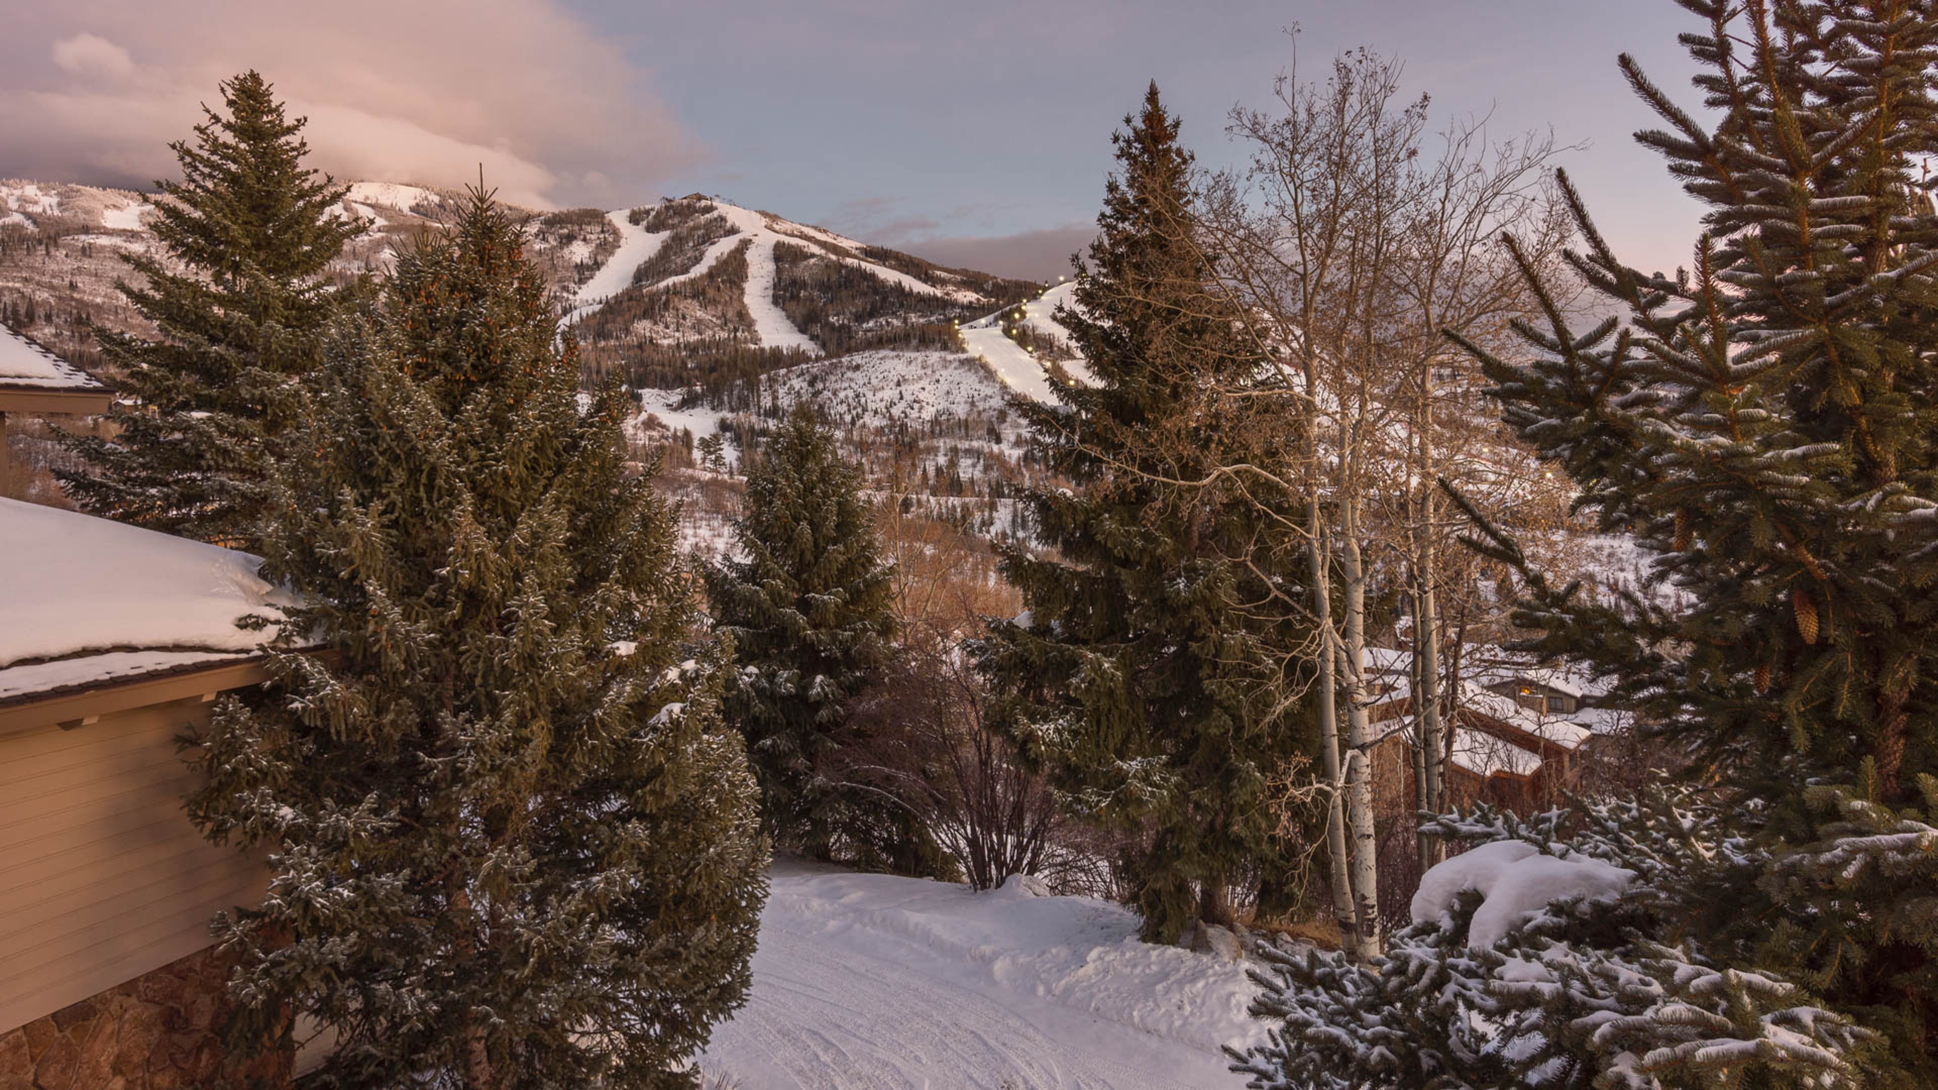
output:
<svg viewBox="0 0 1938 1090"><path fill-rule="evenodd" d="M60 479L91 514L254 549L339 301L322 275L364 225L331 215L345 190L302 165L304 118L262 76L221 93L227 114L203 107L194 142L171 145L182 178L157 182L167 260L126 258L141 283L120 291L161 336L97 330L134 403L114 409L114 438L68 440L87 465Z"/></svg>

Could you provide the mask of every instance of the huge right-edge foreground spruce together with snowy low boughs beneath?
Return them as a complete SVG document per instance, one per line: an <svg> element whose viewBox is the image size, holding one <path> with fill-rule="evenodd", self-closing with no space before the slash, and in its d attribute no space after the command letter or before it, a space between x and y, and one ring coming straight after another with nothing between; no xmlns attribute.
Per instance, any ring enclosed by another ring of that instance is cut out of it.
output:
<svg viewBox="0 0 1938 1090"><path fill-rule="evenodd" d="M1636 882L1485 954L1469 904L1372 972L1283 964L1258 1086L1370 1076L1430 1003L1527 1040L1415 1057L1471 1086L1938 1084L1938 4L1678 2L1707 21L1682 43L1717 118L1620 64L1667 122L1638 138L1709 209L1692 270L1624 266L1564 178L1570 264L1618 316L1576 330L1510 239L1547 320L1517 326L1523 359L1467 345L1578 512L1676 593L1585 601L1454 498L1521 574L1523 646L1610 677L1700 789L1653 817L1578 805L1572 828L1440 822ZM1527 1067L1548 1059L1566 1076Z"/></svg>

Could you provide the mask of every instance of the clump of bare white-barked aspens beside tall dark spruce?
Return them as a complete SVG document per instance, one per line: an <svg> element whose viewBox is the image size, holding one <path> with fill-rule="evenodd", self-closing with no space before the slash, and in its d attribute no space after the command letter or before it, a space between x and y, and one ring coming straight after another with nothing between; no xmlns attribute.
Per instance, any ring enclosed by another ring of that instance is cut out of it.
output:
<svg viewBox="0 0 1938 1090"><path fill-rule="evenodd" d="M1442 380L1459 367L1440 330L1492 341L1531 308L1492 248L1502 229L1535 239L1543 260L1566 239L1547 171L1552 140L1494 142L1485 118L1434 132L1428 99L1403 99L1399 81L1395 60L1366 50L1337 58L1324 83L1283 76L1273 109L1235 111L1250 165L1205 182L1196 225L1223 273L1219 291L1242 305L1246 337L1271 361L1250 394L1277 400L1283 433L1302 436L1277 458L1233 460L1209 477L1302 498L1297 516L1264 520L1271 531L1252 541L1250 561L1269 568L1267 555L1297 551L1308 566L1298 597L1262 609L1295 611L1310 621L1298 630L1316 632L1283 648L1312 669L1281 677L1318 689L1333 914L1359 956L1380 950L1382 917L1368 751L1378 741L1370 708L1388 694L1366 663L1380 623L1368 592L1407 588L1419 650L1415 789L1421 805L1440 805L1448 731L1436 599L1452 526L1430 485L1469 469L1500 483L1521 462L1481 413L1440 411L1457 401ZM1517 495L1525 489L1504 489ZM1432 851L1424 838L1421 850Z"/></svg>

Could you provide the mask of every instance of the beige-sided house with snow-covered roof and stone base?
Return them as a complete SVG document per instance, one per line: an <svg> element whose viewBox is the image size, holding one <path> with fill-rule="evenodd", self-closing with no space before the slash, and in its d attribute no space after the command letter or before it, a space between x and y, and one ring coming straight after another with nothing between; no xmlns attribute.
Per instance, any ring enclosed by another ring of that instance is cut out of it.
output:
<svg viewBox="0 0 1938 1090"><path fill-rule="evenodd" d="M200 1086L221 1059L209 923L267 871L184 817L176 739L264 681L256 568L0 498L0 1086Z"/></svg>

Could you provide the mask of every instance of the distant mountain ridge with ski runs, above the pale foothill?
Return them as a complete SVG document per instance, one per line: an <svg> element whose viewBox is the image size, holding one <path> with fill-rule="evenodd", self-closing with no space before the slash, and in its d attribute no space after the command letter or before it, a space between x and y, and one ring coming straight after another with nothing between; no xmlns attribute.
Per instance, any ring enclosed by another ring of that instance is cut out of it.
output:
<svg viewBox="0 0 1938 1090"><path fill-rule="evenodd" d="M335 213L366 223L337 268L378 272L455 213L459 192L353 182ZM820 227L692 194L624 209L512 209L589 370L686 386L860 349L955 349L953 324L1037 285L942 268ZM78 355L85 322L136 328L118 254L159 252L151 198L0 180L0 316Z"/></svg>

